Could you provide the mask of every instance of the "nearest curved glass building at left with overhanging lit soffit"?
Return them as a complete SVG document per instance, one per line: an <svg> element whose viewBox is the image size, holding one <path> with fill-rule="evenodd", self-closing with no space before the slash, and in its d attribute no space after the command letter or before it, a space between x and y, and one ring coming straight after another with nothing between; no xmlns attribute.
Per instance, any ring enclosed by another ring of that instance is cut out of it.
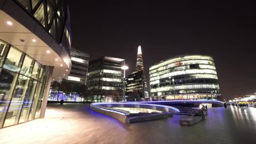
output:
<svg viewBox="0 0 256 144"><path fill-rule="evenodd" d="M0 128L43 118L52 80L71 69L66 0L0 1Z"/></svg>

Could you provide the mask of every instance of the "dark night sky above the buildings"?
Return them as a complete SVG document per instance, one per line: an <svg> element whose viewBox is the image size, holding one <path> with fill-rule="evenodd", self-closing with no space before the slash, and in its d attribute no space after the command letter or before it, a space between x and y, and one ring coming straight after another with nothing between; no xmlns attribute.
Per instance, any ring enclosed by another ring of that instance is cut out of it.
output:
<svg viewBox="0 0 256 144"><path fill-rule="evenodd" d="M141 45L147 80L149 66L158 61L208 54L215 60L224 98L253 94L256 9L241 2L69 0L72 47L90 54L91 60L125 59L129 74Z"/></svg>

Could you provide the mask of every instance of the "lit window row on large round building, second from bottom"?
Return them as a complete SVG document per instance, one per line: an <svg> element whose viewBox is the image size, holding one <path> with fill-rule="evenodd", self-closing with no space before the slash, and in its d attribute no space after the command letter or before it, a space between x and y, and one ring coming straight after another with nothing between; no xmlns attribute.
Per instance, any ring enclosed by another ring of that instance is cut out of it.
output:
<svg viewBox="0 0 256 144"><path fill-rule="evenodd" d="M159 92L159 91L172 91L172 90L182 90L182 89L201 89L201 88L212 88L219 89L218 84L184 84L184 85L172 85L161 88L151 88L150 92Z"/></svg>

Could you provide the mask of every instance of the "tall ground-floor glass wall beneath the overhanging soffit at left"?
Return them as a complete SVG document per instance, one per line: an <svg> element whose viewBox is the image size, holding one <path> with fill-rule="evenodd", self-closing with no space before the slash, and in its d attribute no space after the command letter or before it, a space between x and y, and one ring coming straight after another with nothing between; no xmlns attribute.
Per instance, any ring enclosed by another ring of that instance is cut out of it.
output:
<svg viewBox="0 0 256 144"><path fill-rule="evenodd" d="M0 128L39 117L48 67L0 40Z"/></svg>

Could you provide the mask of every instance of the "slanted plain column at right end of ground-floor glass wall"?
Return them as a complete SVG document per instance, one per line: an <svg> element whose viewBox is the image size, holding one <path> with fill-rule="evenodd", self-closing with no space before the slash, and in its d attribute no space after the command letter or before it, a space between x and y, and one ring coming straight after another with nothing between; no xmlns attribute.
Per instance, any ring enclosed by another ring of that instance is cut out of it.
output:
<svg viewBox="0 0 256 144"><path fill-rule="evenodd" d="M49 73L48 73L48 77L47 77L47 82L45 84L45 93L44 93L44 96L43 96L43 102L42 102L39 118L45 118L45 110L46 110L47 100L48 100L48 96L49 96L49 91L50 91L50 88L51 88L53 68L54 67L49 67Z"/></svg>

